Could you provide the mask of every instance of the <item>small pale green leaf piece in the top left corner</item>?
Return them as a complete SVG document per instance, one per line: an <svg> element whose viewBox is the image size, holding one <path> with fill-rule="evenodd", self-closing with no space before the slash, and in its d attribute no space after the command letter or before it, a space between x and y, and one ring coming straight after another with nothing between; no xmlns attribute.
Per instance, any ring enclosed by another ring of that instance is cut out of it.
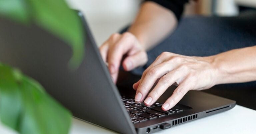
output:
<svg viewBox="0 0 256 134"><path fill-rule="evenodd" d="M0 15L21 23L28 22L28 11L24 0L0 0Z"/></svg>

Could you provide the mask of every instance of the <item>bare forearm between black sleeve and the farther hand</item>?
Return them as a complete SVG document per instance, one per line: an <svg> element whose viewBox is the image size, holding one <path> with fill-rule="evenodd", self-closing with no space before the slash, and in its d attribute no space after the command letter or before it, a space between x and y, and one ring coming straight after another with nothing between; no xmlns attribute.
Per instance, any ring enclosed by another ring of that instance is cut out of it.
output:
<svg viewBox="0 0 256 134"><path fill-rule="evenodd" d="M170 10L154 2L145 2L128 31L148 50L171 33L176 25L177 19Z"/></svg>

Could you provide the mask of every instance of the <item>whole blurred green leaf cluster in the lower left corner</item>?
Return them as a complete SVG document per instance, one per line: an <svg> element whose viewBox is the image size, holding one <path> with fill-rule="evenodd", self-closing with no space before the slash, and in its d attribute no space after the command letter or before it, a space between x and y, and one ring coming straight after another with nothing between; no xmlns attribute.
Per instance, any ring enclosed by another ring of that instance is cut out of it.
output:
<svg viewBox="0 0 256 134"><path fill-rule="evenodd" d="M38 82L0 64L0 119L21 134L67 134L71 113Z"/></svg>

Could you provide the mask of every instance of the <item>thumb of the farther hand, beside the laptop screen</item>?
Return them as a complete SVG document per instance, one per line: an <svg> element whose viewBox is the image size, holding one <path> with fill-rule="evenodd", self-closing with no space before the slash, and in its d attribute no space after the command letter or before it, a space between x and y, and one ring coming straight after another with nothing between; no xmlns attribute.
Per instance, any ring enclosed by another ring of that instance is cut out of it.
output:
<svg viewBox="0 0 256 134"><path fill-rule="evenodd" d="M145 51L139 51L133 55L129 55L123 61L125 71L131 71L136 67L143 66L147 63L148 56Z"/></svg>

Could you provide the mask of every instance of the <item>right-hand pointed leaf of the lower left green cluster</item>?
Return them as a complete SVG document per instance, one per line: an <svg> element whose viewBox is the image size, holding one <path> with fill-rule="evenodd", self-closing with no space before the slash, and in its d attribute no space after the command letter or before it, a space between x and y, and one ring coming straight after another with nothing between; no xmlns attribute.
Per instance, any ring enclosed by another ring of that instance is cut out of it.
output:
<svg viewBox="0 0 256 134"><path fill-rule="evenodd" d="M21 134L67 134L71 114L37 87L40 87L37 82L23 78L21 90L25 109Z"/></svg>

